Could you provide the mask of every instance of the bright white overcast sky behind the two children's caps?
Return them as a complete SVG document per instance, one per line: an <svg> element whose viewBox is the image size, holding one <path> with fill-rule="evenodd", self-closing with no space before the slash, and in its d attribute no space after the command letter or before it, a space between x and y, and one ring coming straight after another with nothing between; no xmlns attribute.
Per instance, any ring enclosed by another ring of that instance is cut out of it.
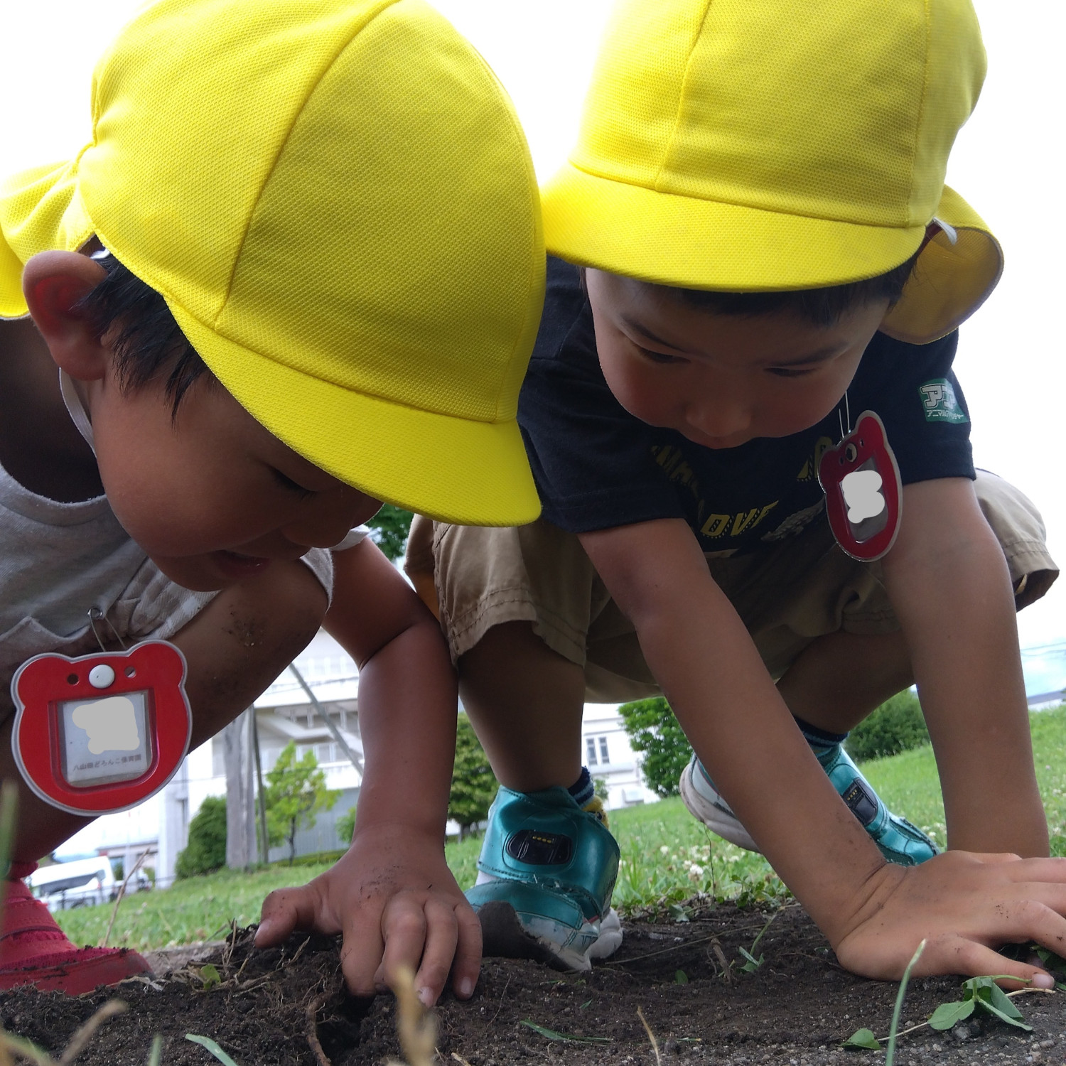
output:
<svg viewBox="0 0 1066 1066"><path fill-rule="evenodd" d="M650 0L653 2L653 0ZM86 139L97 55L138 7L130 0L10 4L0 64L0 174L68 158ZM511 92L537 173L563 162L609 0L437 0ZM948 171L1006 253L999 289L963 327L955 369L979 466L1024 489L1066 559L1064 342L1059 325L1066 210L1062 180L1061 0L976 0L988 50L984 94ZM1066 643L1066 581L1019 618L1023 646ZM1066 684L1066 658L1031 658L1030 691Z"/></svg>

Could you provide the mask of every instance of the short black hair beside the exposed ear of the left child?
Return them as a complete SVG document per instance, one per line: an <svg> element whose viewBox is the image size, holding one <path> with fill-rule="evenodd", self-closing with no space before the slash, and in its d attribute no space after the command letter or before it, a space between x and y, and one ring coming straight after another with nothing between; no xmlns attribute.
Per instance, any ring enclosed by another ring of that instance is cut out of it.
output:
<svg viewBox="0 0 1066 1066"><path fill-rule="evenodd" d="M192 384L205 374L214 381L214 375L155 289L114 256L95 258L108 276L78 302L77 310L97 337L111 334L124 391L134 391L166 375L164 392L176 417Z"/></svg>

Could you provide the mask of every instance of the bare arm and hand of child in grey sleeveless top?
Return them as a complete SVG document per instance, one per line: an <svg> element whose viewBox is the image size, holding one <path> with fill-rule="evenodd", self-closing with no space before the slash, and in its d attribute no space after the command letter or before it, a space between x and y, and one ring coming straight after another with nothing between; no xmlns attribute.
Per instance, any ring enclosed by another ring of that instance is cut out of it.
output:
<svg viewBox="0 0 1066 1066"><path fill-rule="evenodd" d="M335 556L325 628L359 665L366 757L349 852L300 889L271 893L257 942L294 927L343 932L349 987L371 995L401 964L434 1002L452 969L473 991L481 926L445 862L456 682L436 619L370 542Z"/></svg>

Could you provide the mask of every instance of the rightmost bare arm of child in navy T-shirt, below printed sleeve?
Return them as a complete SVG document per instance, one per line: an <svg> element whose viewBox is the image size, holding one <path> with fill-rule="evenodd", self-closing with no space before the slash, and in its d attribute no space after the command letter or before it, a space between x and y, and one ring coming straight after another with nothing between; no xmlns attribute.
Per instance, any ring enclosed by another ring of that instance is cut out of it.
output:
<svg viewBox="0 0 1066 1066"><path fill-rule="evenodd" d="M904 487L884 576L936 752L949 845L1047 855L1011 578L969 480Z"/></svg>

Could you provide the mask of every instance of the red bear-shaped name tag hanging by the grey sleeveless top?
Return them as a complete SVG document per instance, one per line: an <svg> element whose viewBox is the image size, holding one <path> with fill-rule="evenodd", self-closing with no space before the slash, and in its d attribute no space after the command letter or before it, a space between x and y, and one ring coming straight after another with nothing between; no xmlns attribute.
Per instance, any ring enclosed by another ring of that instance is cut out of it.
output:
<svg viewBox="0 0 1066 1066"><path fill-rule="evenodd" d="M112 814L155 795L189 749L184 678L185 657L166 641L28 659L11 682L11 742L26 782L74 814Z"/></svg>

